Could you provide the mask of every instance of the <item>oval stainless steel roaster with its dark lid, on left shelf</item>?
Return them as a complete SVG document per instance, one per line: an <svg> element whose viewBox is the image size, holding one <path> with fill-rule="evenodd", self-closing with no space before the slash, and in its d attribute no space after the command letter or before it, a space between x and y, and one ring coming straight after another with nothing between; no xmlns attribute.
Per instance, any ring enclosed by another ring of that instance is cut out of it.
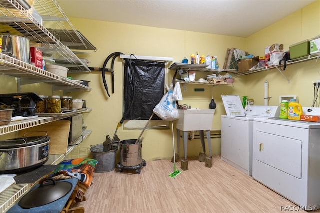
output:
<svg viewBox="0 0 320 213"><path fill-rule="evenodd" d="M20 173L49 159L49 136L19 137L0 141L1 173Z"/></svg>

